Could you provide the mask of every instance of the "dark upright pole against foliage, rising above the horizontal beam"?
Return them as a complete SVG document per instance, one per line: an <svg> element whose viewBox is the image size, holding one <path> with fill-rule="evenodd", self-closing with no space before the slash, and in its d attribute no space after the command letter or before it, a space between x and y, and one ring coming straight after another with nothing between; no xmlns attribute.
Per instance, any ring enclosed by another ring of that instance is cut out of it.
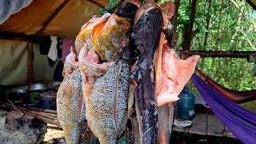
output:
<svg viewBox="0 0 256 144"><path fill-rule="evenodd" d="M191 7L191 14L190 14L190 23L187 28L186 32L186 45L184 47L184 50L190 50L190 44L192 42L192 30L193 30L193 25L194 25L194 17L196 13L196 5L197 5L197 0L192 0L192 7Z"/></svg>

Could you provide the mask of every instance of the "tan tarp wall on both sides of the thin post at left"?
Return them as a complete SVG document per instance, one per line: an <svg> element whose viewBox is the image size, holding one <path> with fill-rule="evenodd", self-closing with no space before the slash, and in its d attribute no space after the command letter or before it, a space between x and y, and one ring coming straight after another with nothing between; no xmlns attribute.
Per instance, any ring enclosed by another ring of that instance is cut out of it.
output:
<svg viewBox="0 0 256 144"><path fill-rule="evenodd" d="M28 42L0 39L0 85L25 85L27 81ZM40 54L39 45L33 45L33 81L53 81L54 66L49 66L47 55Z"/></svg>

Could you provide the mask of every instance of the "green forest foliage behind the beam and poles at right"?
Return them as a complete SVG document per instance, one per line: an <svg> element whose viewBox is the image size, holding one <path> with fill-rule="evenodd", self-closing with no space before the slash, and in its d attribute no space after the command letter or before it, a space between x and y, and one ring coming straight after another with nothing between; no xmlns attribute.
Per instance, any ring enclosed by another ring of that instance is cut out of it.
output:
<svg viewBox="0 0 256 144"><path fill-rule="evenodd" d="M178 10L181 37L190 22L190 10L191 0L181 0ZM245 0L198 0L193 30L197 29L199 33L194 35L191 50L256 50L256 10ZM184 42L181 37L178 46ZM246 58L201 58L198 68L227 88L256 89L253 62L247 62Z"/></svg>

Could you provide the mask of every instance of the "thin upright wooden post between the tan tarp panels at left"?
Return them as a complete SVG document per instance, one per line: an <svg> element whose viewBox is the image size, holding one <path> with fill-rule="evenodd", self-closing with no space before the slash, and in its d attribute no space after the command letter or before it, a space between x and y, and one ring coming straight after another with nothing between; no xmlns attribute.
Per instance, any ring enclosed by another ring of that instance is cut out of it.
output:
<svg viewBox="0 0 256 144"><path fill-rule="evenodd" d="M28 42L27 52L27 84L33 82L33 42Z"/></svg>

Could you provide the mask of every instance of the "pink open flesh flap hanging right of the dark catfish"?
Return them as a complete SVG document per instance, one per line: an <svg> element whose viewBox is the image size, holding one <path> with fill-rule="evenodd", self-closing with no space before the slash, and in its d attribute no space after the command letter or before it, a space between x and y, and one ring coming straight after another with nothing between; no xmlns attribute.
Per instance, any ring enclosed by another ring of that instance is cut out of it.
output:
<svg viewBox="0 0 256 144"><path fill-rule="evenodd" d="M182 60L167 42L159 46L156 54L159 57L155 60L157 67L155 94L158 106L162 106L178 100L178 94L189 82L200 56L193 55Z"/></svg>

